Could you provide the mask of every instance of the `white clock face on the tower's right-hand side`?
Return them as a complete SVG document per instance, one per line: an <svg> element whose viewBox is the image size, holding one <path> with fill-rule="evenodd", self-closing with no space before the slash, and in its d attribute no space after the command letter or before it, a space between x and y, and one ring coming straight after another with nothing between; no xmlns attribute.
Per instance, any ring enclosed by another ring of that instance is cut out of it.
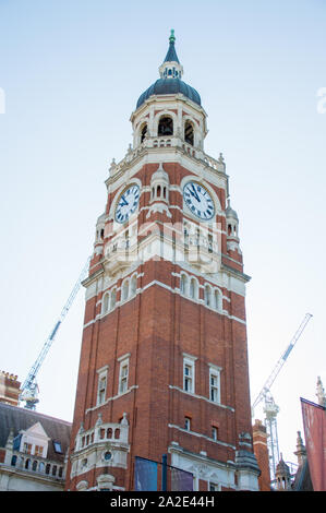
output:
<svg viewBox="0 0 326 513"><path fill-rule="evenodd" d="M189 181L183 188L183 199L193 215L202 220L214 217L215 208L210 194L195 181Z"/></svg>

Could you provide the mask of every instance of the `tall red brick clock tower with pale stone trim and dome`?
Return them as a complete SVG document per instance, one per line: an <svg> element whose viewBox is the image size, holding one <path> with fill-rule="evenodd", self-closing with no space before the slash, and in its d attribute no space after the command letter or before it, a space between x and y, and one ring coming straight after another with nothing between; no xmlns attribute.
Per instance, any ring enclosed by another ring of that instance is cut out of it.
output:
<svg viewBox="0 0 326 513"><path fill-rule="evenodd" d="M173 32L159 72L106 181L67 489L133 490L135 456L168 454L194 489L257 490L239 219Z"/></svg>

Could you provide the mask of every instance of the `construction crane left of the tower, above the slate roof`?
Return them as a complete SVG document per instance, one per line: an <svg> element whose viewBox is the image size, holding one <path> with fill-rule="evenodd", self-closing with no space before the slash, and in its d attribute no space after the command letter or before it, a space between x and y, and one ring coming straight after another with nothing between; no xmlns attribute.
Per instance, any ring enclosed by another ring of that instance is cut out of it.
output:
<svg viewBox="0 0 326 513"><path fill-rule="evenodd" d="M34 366L32 367L32 369L29 370L28 374L27 374L27 378L25 379L22 387L21 387L21 394L20 394L20 401L22 402L25 402L25 408L27 409L35 409L36 408L36 404L39 402L39 399L37 398L37 395L38 395L38 385L36 383L36 375L37 375L37 372L39 371L40 369L40 366L41 363L44 362L53 341L55 341L55 337L58 333L58 330L63 321L63 319L65 318L67 313L69 312L70 310L70 307L72 306L79 290L80 290L80 287L81 287L81 284L83 282L83 279L86 277L87 275L87 272L88 272L88 267L89 267L89 261L90 261L90 256L88 256L84 267L83 267L83 271L81 272L80 274L80 277L77 279L77 282L75 283L61 313L60 313L60 317L58 319L58 321L56 322L55 324L55 327L52 329L50 335L48 336L46 343L44 344L37 359L35 360L34 362Z"/></svg>

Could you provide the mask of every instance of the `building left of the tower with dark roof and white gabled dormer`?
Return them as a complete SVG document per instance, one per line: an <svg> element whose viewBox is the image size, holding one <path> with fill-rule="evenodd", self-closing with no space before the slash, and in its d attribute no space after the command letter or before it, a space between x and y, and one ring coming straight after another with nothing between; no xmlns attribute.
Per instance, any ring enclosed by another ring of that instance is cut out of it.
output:
<svg viewBox="0 0 326 513"><path fill-rule="evenodd" d="M19 407L17 377L1 377L0 491L63 491L71 422Z"/></svg>

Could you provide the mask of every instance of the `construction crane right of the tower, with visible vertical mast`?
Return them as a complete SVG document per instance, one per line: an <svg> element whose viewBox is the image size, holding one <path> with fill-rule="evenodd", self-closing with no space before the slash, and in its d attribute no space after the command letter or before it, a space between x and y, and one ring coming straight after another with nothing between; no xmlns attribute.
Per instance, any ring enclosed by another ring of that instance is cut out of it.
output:
<svg viewBox="0 0 326 513"><path fill-rule="evenodd" d="M289 358L291 350L293 349L294 345L297 344L298 339L300 338L303 330L305 329L307 322L312 318L311 313L306 313L304 315L303 321L301 322L300 326L298 327L293 338L291 339L290 344L288 345L287 349L282 354L282 356L277 361L276 366L274 367L271 373L265 381L263 389L261 390L259 394L257 395L256 399L252 405L252 415L254 416L255 407L262 402L265 402L264 405L264 414L265 414L265 426L267 432L267 445L268 445L268 453L270 460L270 474L271 480L275 479L275 472L276 466L279 462L279 449L278 449L278 434L277 434L277 421L276 417L279 411L279 407L275 404L273 395L270 393L270 387L275 382L277 375L279 374L281 368L283 367L285 362Z"/></svg>

